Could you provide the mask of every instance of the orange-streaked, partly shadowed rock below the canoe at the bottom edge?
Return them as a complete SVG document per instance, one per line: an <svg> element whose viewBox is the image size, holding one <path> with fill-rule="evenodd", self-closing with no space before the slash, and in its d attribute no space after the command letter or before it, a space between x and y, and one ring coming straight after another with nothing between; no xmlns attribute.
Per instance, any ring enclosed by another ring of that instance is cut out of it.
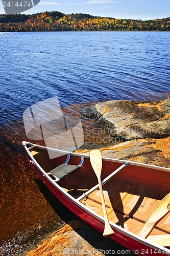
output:
<svg viewBox="0 0 170 256"><path fill-rule="evenodd" d="M65 226L41 241L37 248L20 256L70 256L70 255L112 255L116 252L134 255L102 233L96 231L81 220L65 223Z"/></svg>

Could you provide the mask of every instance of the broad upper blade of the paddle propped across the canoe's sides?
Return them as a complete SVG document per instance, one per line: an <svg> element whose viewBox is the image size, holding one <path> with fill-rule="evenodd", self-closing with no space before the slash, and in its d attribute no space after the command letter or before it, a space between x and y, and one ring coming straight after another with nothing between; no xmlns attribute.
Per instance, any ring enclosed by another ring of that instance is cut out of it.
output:
<svg viewBox="0 0 170 256"><path fill-rule="evenodd" d="M101 176L102 156L100 150L90 151L90 162L97 177Z"/></svg>

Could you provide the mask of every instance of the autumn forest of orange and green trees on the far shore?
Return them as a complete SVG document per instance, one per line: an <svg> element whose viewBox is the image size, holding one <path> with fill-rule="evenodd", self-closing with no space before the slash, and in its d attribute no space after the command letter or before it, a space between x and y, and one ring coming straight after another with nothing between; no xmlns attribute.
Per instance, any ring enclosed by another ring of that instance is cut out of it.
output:
<svg viewBox="0 0 170 256"><path fill-rule="evenodd" d="M154 20L116 19L58 11L0 15L0 31L170 31L170 17Z"/></svg>

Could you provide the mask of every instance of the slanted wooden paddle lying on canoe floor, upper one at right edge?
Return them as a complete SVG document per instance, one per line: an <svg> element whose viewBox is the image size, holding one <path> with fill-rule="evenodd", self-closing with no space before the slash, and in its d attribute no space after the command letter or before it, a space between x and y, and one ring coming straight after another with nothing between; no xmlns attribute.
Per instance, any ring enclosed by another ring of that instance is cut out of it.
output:
<svg viewBox="0 0 170 256"><path fill-rule="evenodd" d="M147 238L149 233L154 228L155 224L160 221L165 214L170 210L170 193L167 194L155 207L149 220L144 224L144 227L138 233L141 238Z"/></svg>

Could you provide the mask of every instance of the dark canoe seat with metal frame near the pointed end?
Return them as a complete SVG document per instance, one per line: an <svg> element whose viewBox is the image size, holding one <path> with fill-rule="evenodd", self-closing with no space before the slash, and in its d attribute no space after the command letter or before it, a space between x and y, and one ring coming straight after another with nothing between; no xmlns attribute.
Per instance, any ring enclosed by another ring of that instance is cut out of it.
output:
<svg viewBox="0 0 170 256"><path fill-rule="evenodd" d="M56 168L52 169L48 175L54 176L55 180L54 181L59 181L67 178L71 174L75 173L76 170L80 169L83 162L84 162L84 157L81 157L81 161L79 165L74 165L74 164L67 164L70 159L70 154L67 154L67 159L65 163L57 166Z"/></svg>

